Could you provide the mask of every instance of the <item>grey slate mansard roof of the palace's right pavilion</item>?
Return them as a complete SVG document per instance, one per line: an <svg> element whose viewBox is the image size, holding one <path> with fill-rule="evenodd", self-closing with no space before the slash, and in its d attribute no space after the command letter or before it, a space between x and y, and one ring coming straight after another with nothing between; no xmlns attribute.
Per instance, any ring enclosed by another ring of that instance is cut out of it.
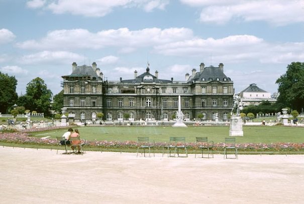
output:
<svg viewBox="0 0 304 204"><path fill-rule="evenodd" d="M223 70L220 67L214 66L205 67L201 73L197 72L194 77L192 76L191 80L210 81L211 79L213 81L217 80L217 78L219 81L231 81L231 79L224 74Z"/></svg>

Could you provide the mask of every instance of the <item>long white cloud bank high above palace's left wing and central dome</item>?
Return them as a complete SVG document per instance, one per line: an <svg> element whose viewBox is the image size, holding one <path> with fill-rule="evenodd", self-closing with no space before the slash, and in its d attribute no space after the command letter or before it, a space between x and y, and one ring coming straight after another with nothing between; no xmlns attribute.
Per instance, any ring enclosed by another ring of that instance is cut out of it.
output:
<svg viewBox="0 0 304 204"><path fill-rule="evenodd" d="M103 30L91 33L85 29L55 30L41 40L29 40L17 43L23 49L100 49L104 47L128 48L147 47L184 40L192 37L192 30L187 28L146 28L130 31L128 28Z"/></svg>

